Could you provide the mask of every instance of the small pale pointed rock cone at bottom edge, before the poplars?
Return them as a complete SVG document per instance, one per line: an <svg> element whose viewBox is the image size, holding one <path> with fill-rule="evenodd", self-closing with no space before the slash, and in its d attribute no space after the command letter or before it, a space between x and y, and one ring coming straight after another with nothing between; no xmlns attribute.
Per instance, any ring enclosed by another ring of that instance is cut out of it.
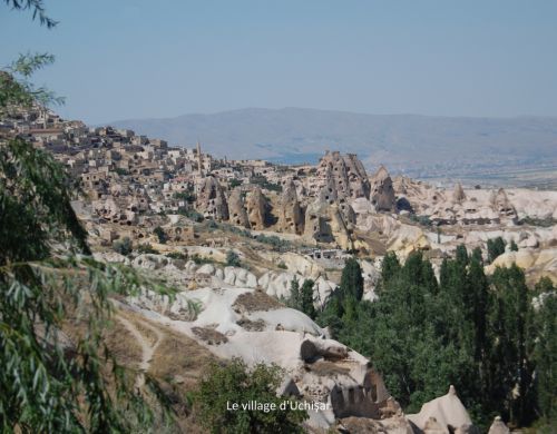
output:
<svg viewBox="0 0 557 434"><path fill-rule="evenodd" d="M449 434L455 430L459 433L478 432L452 385L447 395L423 404L420 413L409 414L407 418L424 433Z"/></svg>

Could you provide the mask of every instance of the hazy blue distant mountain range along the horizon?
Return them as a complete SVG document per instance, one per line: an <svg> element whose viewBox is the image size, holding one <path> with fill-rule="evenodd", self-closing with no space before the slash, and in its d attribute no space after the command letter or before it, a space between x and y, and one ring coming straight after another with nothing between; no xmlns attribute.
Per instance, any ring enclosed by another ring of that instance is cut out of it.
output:
<svg viewBox="0 0 557 434"><path fill-rule="evenodd" d="M325 149L355 152L370 167L434 174L557 162L557 118L363 115L302 108L248 108L213 115L108 122L172 145L232 159L314 162Z"/></svg>

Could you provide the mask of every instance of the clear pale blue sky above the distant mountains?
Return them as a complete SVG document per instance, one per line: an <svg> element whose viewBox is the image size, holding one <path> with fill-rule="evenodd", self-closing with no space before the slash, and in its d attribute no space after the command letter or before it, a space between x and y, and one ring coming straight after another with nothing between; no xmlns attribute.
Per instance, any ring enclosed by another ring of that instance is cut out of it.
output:
<svg viewBox="0 0 557 434"><path fill-rule="evenodd" d="M89 122L245 107L557 116L555 0L46 0L0 3L0 65L49 51L38 83Z"/></svg>

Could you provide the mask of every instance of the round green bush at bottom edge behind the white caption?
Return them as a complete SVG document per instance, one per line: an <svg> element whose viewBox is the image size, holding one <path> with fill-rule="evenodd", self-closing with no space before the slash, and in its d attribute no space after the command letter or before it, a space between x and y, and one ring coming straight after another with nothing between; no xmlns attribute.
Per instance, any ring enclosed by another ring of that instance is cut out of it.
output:
<svg viewBox="0 0 557 434"><path fill-rule="evenodd" d="M303 433L300 425L307 418L301 410L227 410L228 405L240 405L256 401L275 404L277 408L284 398L276 396L281 384L281 369L276 365L257 364L253 368L238 358L221 366L213 364L193 396L202 424L211 433Z"/></svg>

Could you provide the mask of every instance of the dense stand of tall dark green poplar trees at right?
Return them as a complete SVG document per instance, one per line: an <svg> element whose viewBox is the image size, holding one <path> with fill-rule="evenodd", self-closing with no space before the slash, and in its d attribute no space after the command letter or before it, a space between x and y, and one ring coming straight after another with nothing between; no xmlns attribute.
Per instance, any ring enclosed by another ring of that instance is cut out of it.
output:
<svg viewBox="0 0 557 434"><path fill-rule="evenodd" d="M546 294L538 310L536 294ZM439 283L420 253L402 266L385 255L378 295L356 302L338 289L317 323L369 356L407 412L453 384L480 427L494 414L518 426L536 415L555 425L557 296L549 280L532 294L516 266L488 278L481 250L459 247L442 262Z"/></svg>

